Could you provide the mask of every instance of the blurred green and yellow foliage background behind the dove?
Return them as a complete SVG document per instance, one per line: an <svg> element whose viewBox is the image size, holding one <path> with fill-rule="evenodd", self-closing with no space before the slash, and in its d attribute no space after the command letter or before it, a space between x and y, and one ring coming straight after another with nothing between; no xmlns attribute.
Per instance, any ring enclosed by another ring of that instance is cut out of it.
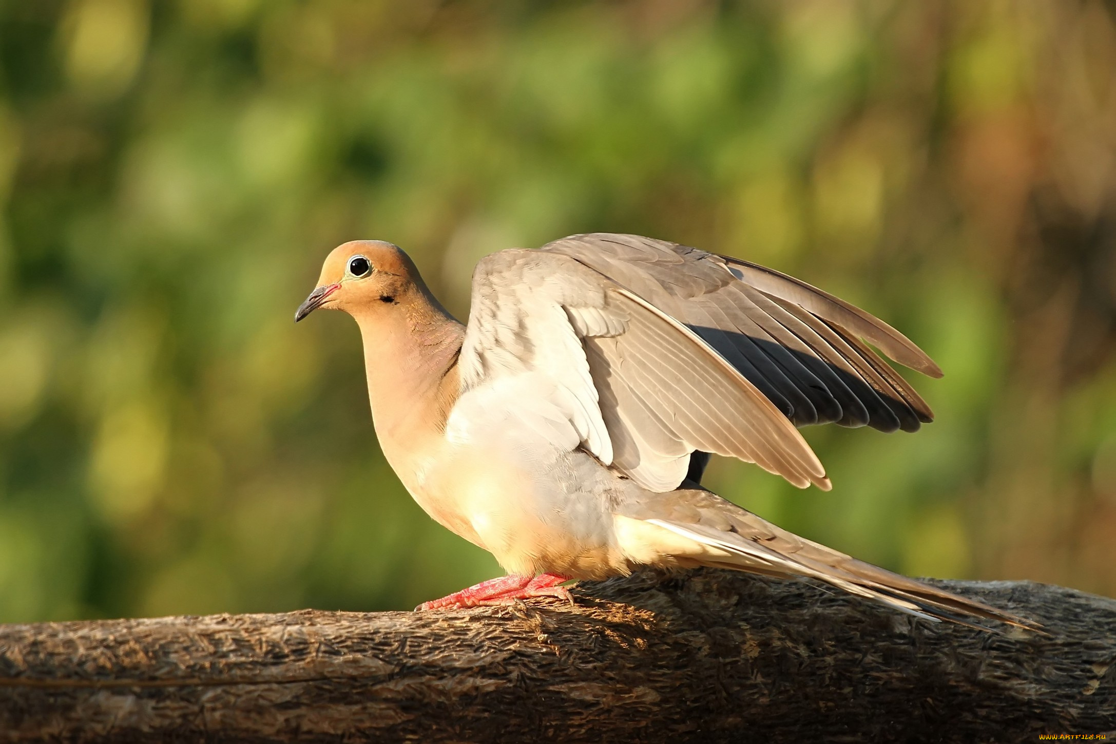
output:
<svg viewBox="0 0 1116 744"><path fill-rule="evenodd" d="M410 608L500 573L375 442L335 244L575 232L747 257L945 369L833 493L918 576L1116 595L1116 31L1090 0L0 0L0 620Z"/></svg>

